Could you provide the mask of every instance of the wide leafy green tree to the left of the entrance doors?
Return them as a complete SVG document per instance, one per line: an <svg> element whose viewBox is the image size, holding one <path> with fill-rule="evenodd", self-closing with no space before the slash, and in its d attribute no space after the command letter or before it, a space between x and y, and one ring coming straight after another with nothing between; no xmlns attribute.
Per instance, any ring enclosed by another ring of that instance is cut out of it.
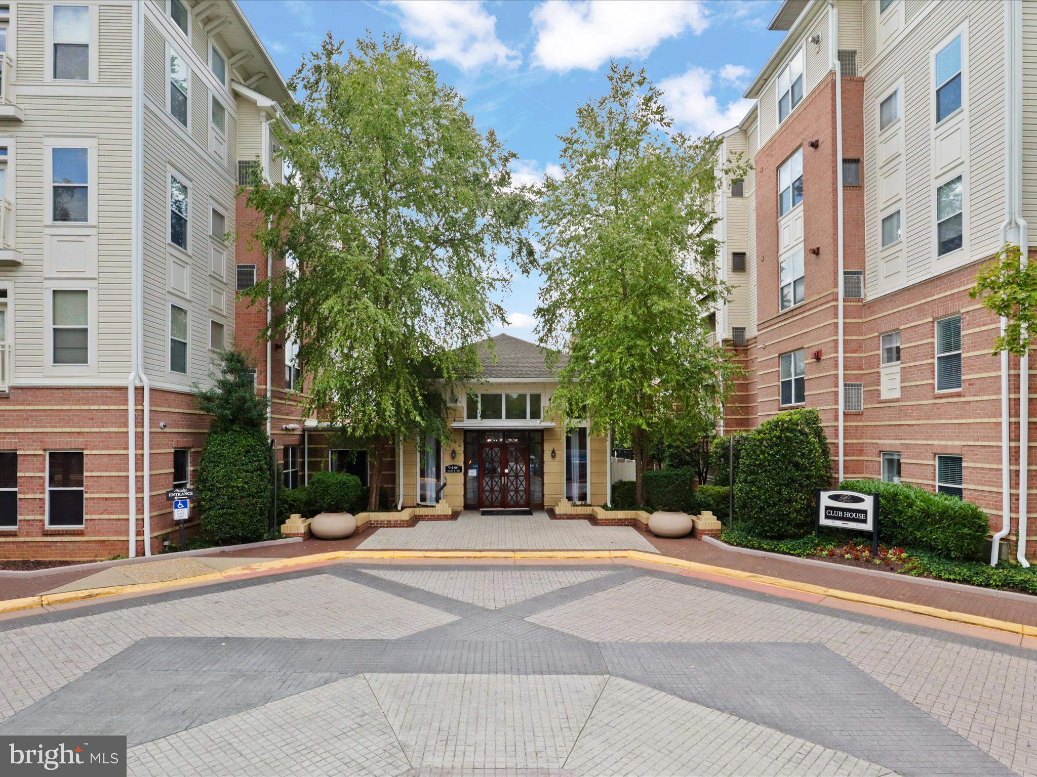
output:
<svg viewBox="0 0 1037 777"><path fill-rule="evenodd" d="M502 265L532 265L532 204L511 185L515 154L413 47L342 48L329 34L289 81L297 130L275 135L291 175L248 203L262 248L293 261L250 294L283 306L265 335L299 342L306 409L368 441L373 510L395 439L447 438L445 396L505 320Z"/></svg>

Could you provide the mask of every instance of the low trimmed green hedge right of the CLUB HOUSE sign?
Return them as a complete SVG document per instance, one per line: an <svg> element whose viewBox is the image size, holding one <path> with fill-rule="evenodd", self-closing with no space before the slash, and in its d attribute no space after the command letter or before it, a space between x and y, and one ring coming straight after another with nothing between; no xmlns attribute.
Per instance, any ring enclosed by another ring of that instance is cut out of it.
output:
<svg viewBox="0 0 1037 777"><path fill-rule="evenodd" d="M878 536L887 545L924 548L955 560L980 558L990 522L977 505L918 486L844 481L839 488L878 494Z"/></svg>

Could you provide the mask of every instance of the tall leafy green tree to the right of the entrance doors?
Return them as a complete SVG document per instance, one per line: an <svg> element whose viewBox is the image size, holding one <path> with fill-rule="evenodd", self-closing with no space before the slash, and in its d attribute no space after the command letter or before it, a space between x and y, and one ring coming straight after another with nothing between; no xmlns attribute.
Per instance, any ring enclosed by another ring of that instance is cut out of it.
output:
<svg viewBox="0 0 1037 777"><path fill-rule="evenodd" d="M667 429L711 418L736 374L711 343L719 140L672 132L663 95L613 62L609 91L559 136L562 173L538 188L545 257L537 335L564 348L553 410L633 441L637 502L649 448ZM719 169L720 168L720 169Z"/></svg>

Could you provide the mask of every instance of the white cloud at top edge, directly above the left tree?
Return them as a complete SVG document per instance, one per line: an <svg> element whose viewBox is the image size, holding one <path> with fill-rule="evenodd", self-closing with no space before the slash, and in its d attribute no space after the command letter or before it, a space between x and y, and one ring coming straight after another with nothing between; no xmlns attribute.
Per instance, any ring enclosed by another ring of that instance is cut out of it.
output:
<svg viewBox="0 0 1037 777"><path fill-rule="evenodd" d="M429 59L472 70L484 64L514 67L522 56L497 37L497 18L481 2L465 0L386 0L402 17L403 33L419 42Z"/></svg>

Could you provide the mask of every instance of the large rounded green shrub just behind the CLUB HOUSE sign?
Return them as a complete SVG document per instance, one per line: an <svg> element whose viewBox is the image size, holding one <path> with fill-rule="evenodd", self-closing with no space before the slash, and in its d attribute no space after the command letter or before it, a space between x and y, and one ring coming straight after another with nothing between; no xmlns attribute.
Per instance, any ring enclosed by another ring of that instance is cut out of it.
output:
<svg viewBox="0 0 1037 777"><path fill-rule="evenodd" d="M760 424L741 447L734 507L762 537L803 537L813 527L814 491L832 483L832 458L813 408L787 410Z"/></svg>

